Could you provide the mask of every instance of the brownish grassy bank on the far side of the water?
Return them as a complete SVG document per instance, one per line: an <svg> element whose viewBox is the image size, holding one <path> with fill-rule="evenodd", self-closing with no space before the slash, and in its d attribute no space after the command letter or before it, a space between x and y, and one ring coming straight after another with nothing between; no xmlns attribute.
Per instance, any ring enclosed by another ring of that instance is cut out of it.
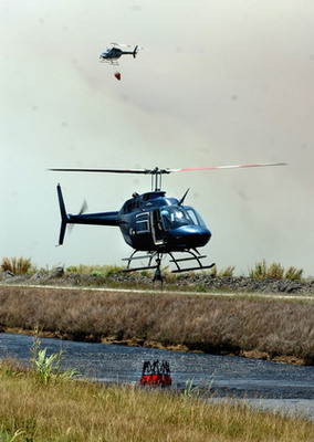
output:
<svg viewBox="0 0 314 442"><path fill-rule="evenodd" d="M0 286L0 328L314 364L311 301ZM48 336L48 335L45 335Z"/></svg>

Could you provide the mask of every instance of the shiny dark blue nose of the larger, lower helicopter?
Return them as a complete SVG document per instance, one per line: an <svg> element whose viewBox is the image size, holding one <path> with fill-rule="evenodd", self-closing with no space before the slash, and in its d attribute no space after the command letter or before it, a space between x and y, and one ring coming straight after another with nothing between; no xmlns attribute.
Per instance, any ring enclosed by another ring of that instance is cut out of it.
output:
<svg viewBox="0 0 314 442"><path fill-rule="evenodd" d="M202 248L210 240L210 231L201 225L185 225L172 230L171 236L181 248L197 249Z"/></svg>

